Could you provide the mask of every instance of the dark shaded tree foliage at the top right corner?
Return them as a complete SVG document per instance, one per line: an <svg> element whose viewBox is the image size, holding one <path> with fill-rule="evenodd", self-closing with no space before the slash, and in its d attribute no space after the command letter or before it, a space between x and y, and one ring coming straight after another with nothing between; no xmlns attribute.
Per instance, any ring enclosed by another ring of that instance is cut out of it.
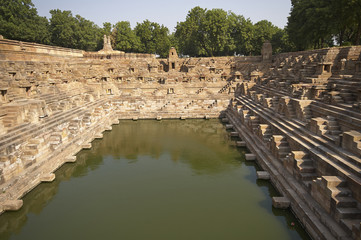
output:
<svg viewBox="0 0 361 240"><path fill-rule="evenodd" d="M292 0L287 32L298 50L358 45L361 0Z"/></svg>

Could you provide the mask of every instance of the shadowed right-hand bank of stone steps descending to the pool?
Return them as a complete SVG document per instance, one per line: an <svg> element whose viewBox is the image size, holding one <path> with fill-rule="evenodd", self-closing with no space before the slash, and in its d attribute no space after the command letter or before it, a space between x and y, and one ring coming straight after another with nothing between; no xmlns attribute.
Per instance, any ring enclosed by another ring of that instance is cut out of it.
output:
<svg viewBox="0 0 361 240"><path fill-rule="evenodd" d="M315 238L360 239L360 47L280 54L226 111Z"/></svg>

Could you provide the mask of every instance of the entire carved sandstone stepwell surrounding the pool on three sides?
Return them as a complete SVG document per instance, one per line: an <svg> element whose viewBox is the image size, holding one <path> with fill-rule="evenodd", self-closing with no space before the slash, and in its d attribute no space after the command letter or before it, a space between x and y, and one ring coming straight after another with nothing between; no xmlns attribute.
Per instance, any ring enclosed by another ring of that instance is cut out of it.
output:
<svg viewBox="0 0 361 240"><path fill-rule="evenodd" d="M0 38L0 213L120 119L221 118L314 239L361 239L361 46L167 59Z"/></svg>

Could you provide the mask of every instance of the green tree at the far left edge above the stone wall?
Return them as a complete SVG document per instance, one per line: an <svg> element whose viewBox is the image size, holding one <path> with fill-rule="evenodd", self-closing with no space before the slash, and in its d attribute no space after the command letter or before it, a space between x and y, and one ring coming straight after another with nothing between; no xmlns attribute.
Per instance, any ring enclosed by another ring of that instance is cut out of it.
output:
<svg viewBox="0 0 361 240"><path fill-rule="evenodd" d="M49 44L48 24L31 0L0 0L0 34L5 38Z"/></svg>

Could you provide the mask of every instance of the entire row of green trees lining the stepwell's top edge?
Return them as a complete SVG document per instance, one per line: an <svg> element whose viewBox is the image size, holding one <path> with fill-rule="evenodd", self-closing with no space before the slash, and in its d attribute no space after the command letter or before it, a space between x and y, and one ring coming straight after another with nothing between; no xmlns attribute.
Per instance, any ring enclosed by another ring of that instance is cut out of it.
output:
<svg viewBox="0 0 361 240"><path fill-rule="evenodd" d="M267 20L249 18L222 9L192 8L175 32L144 20L103 23L102 27L71 11L50 10L41 17L31 0L0 0L0 34L5 38L96 51L103 35L114 49L154 53L166 57L170 47L182 55L259 55L269 40L274 53L333 45L358 45L361 40L361 0L290 0L285 29Z"/></svg>

